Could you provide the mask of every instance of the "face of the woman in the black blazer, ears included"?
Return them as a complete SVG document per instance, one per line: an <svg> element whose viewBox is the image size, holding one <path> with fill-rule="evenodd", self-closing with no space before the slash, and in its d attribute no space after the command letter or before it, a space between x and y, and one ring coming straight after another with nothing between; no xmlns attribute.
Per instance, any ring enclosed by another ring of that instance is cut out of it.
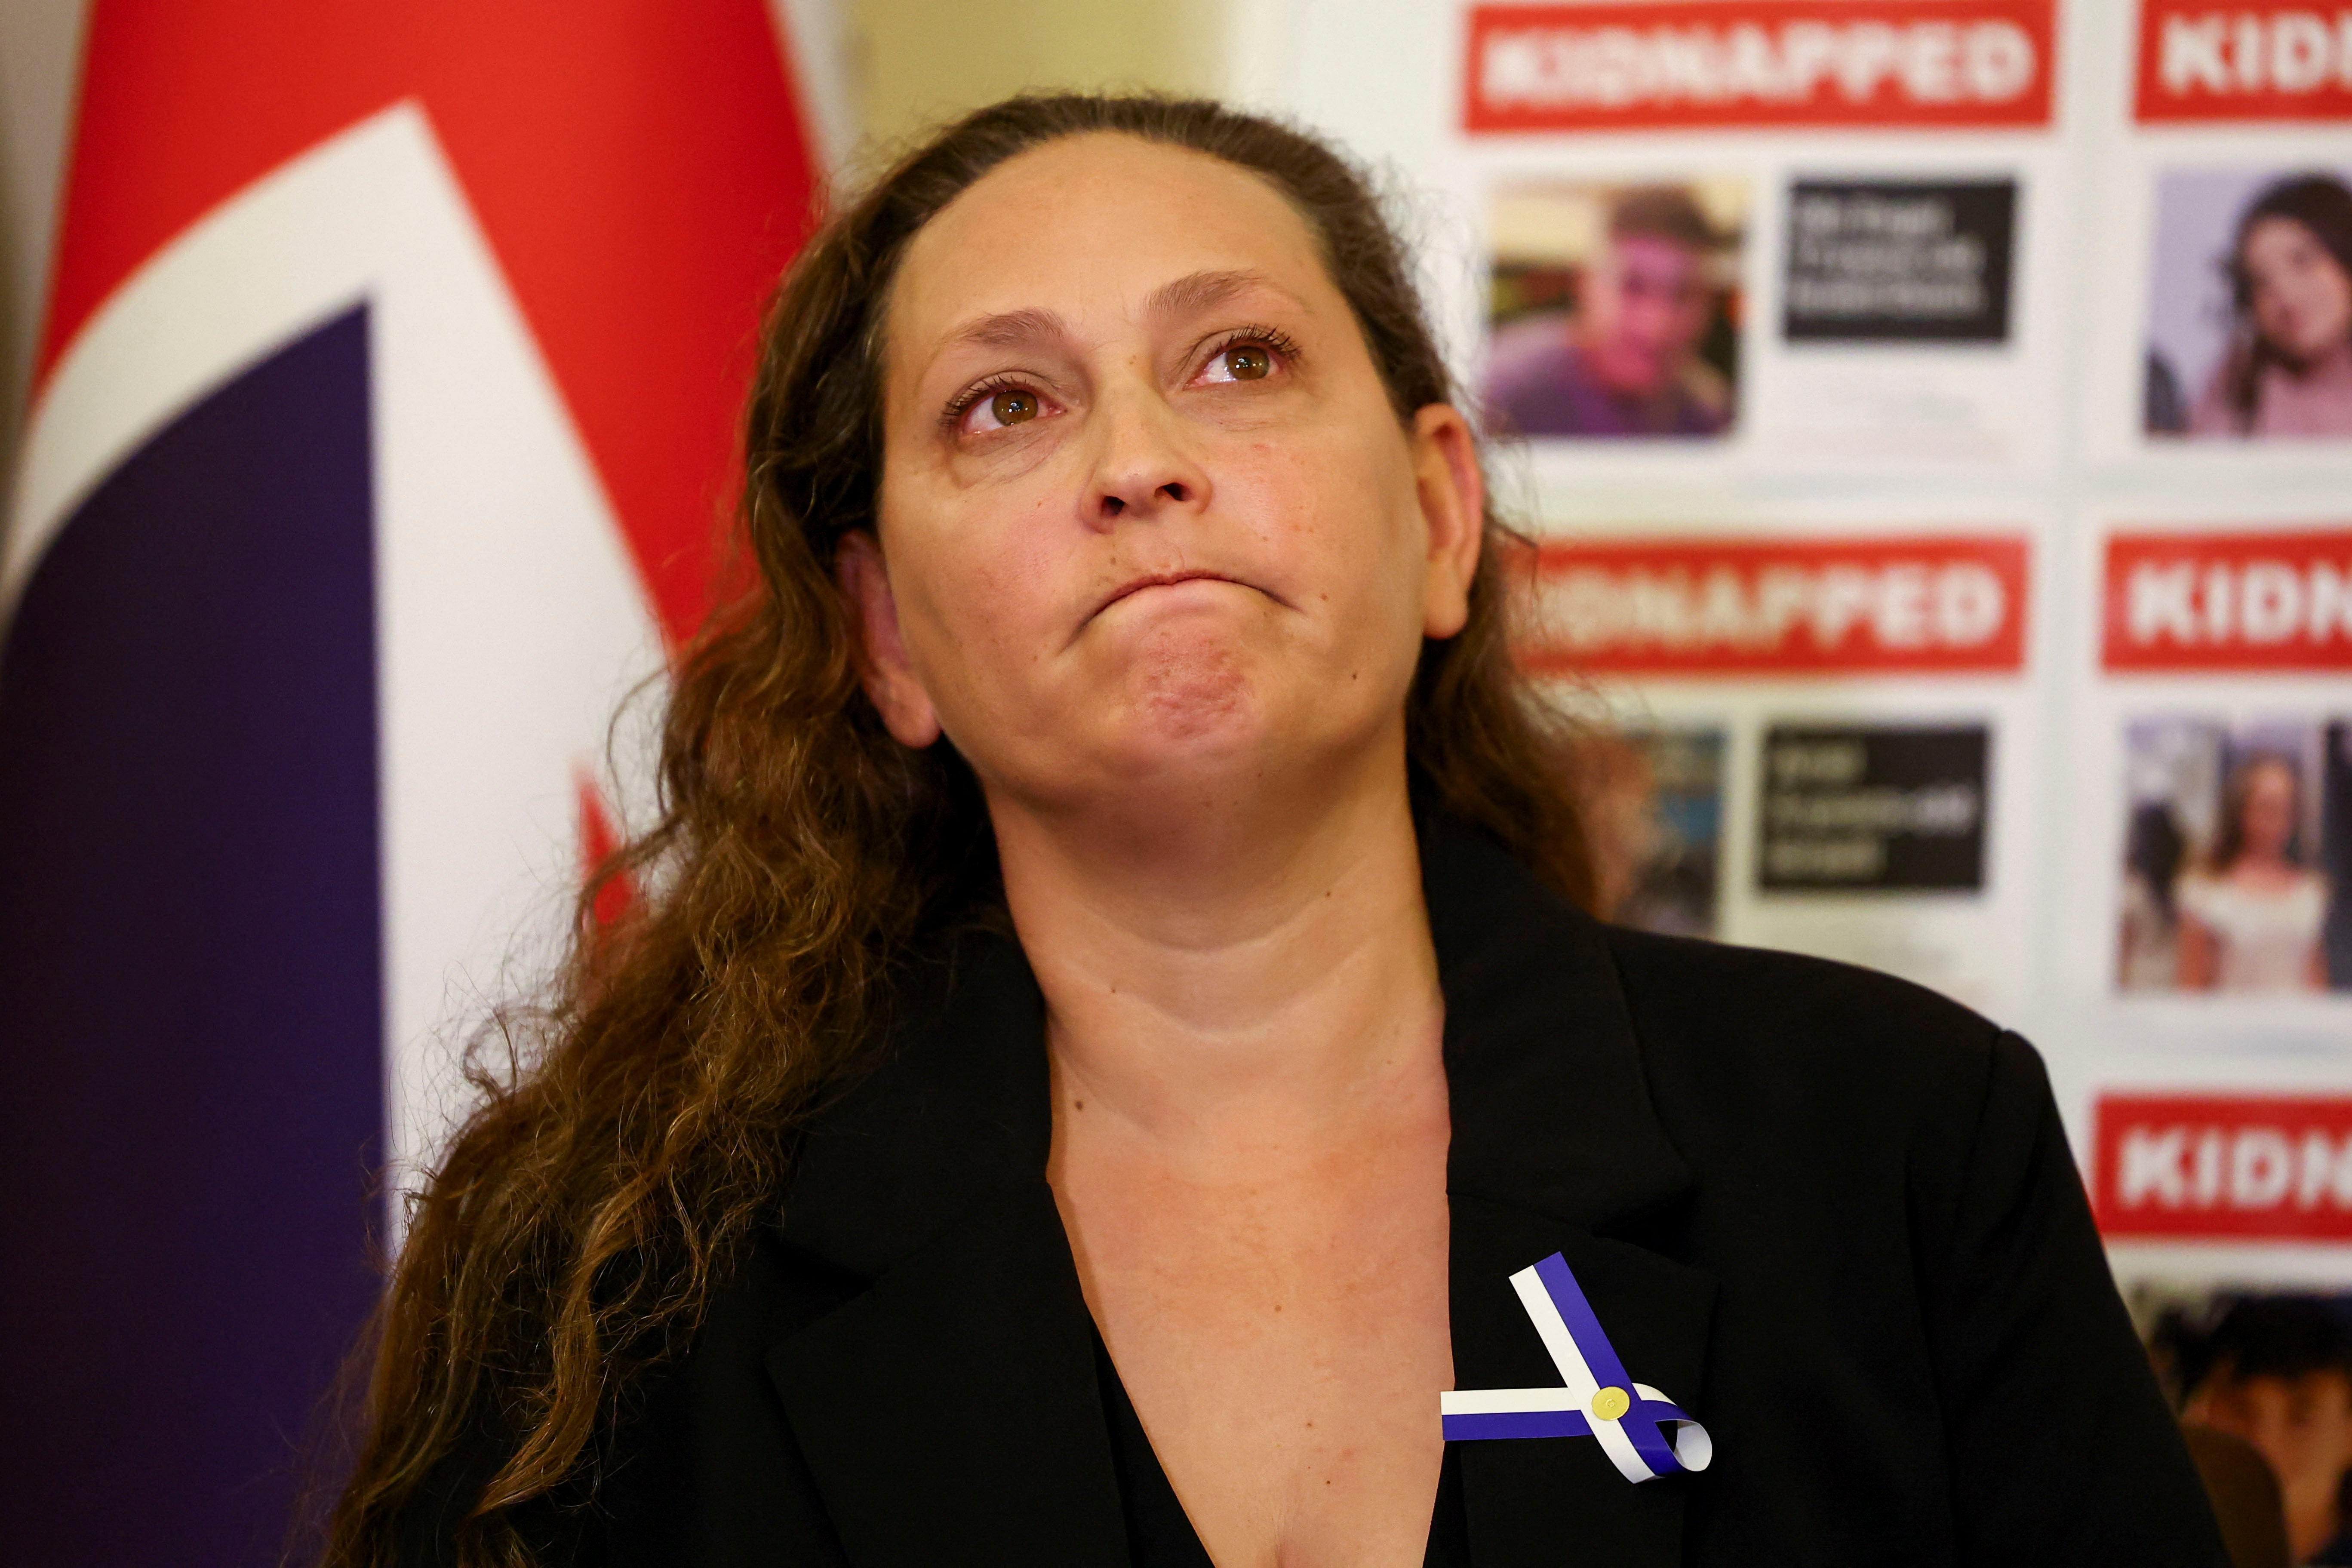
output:
<svg viewBox="0 0 2352 1568"><path fill-rule="evenodd" d="M1089 134L915 235L889 301L868 691L1054 811L1329 769L1463 625L1479 494L1397 421L1305 221L1221 160ZM1204 792L1207 788L1207 792Z"/></svg>

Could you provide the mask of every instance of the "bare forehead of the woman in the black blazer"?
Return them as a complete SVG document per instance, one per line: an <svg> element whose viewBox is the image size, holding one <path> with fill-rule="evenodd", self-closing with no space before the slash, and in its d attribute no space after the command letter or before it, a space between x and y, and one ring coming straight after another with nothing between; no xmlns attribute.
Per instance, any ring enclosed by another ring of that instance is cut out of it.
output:
<svg viewBox="0 0 2352 1568"><path fill-rule="evenodd" d="M1336 299L1305 219L1268 181L1138 136L1065 136L1004 160L915 235L891 289L891 353L924 353L976 315L1131 313L1192 273Z"/></svg>

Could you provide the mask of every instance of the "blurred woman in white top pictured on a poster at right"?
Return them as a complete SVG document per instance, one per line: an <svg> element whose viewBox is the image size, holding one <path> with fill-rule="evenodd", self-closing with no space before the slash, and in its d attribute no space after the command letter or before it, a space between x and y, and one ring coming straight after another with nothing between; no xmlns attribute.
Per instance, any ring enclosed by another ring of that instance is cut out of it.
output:
<svg viewBox="0 0 2352 1568"><path fill-rule="evenodd" d="M2180 985L2326 990L2328 884L2296 858L2303 780L2279 752L2230 769L2213 853L2180 879Z"/></svg>

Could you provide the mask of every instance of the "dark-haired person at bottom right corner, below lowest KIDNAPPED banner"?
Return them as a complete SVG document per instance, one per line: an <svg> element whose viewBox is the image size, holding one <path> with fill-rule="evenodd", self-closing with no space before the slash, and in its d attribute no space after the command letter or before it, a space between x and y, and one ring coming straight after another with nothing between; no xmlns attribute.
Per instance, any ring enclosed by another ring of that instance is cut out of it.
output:
<svg viewBox="0 0 2352 1568"><path fill-rule="evenodd" d="M2352 1333L2310 1298L2232 1305L2183 1368L2183 1420L2253 1443L2279 1479L2296 1563L2352 1563Z"/></svg>

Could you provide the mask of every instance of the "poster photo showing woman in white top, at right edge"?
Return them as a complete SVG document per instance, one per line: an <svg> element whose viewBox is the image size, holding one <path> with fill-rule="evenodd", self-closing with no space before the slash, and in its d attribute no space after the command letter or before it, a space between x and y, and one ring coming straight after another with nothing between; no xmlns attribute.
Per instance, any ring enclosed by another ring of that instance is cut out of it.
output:
<svg viewBox="0 0 2352 1568"><path fill-rule="evenodd" d="M2345 985L2345 722L2126 729L2117 985L2293 994ZM2336 961L2331 961L2331 957ZM2331 980L2333 976L2333 980Z"/></svg>

